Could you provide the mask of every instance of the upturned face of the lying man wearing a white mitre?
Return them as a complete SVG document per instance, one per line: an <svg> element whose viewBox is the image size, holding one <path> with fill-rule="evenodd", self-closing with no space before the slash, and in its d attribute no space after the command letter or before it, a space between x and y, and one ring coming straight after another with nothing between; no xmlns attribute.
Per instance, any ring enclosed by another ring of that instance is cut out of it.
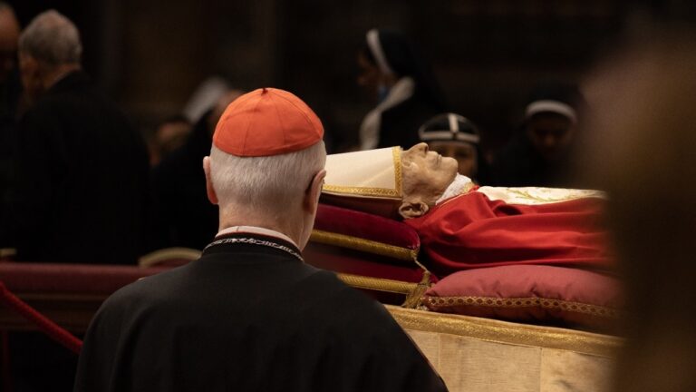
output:
<svg viewBox="0 0 696 392"><path fill-rule="evenodd" d="M431 152L426 143L402 152L401 164L404 199L418 196L429 205L440 198L457 176L457 161Z"/></svg>

